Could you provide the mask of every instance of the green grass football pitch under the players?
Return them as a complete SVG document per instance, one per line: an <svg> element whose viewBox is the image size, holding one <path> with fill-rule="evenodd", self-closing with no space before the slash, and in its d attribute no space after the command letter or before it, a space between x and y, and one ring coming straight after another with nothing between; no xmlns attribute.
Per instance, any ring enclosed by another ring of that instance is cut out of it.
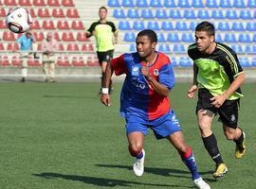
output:
<svg viewBox="0 0 256 189"><path fill-rule="evenodd" d="M242 88L240 124L247 133L242 160L234 158L234 143L226 140L217 119L212 125L229 167L219 180L212 178L214 163L197 128L196 99L186 96L189 86L177 83L170 96L199 172L212 189L256 188L255 83ZM174 147L156 141L152 131L145 140L144 175L133 174L134 159L119 116L121 83L114 87L107 108L97 95L99 83L1 83L0 188L193 188Z"/></svg>

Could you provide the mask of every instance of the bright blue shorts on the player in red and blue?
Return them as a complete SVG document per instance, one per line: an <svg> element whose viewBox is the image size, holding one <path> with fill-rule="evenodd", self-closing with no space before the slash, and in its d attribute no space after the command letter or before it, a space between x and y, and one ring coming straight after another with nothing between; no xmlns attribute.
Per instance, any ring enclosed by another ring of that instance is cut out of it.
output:
<svg viewBox="0 0 256 189"><path fill-rule="evenodd" d="M148 128L152 129L156 139L166 138L174 132L181 131L178 119L174 111L167 112L154 120L144 120L135 115L126 117L126 134L131 132L141 132L147 135Z"/></svg>

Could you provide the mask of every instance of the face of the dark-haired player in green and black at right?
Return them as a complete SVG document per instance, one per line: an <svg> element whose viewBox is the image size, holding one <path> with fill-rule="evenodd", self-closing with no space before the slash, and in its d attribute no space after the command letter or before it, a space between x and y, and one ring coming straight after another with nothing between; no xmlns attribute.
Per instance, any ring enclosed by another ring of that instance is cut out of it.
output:
<svg viewBox="0 0 256 189"><path fill-rule="evenodd" d="M207 52L214 43L214 36L210 36L206 31L195 31L195 42L200 52Z"/></svg>

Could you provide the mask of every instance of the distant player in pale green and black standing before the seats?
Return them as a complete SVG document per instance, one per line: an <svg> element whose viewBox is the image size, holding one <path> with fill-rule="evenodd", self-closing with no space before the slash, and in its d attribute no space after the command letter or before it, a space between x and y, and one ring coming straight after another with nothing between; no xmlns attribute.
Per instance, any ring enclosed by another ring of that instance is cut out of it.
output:
<svg viewBox="0 0 256 189"><path fill-rule="evenodd" d="M95 36L97 56L101 64L102 76L105 74L106 65L113 58L114 44L118 43L118 30L114 23L106 20L107 9L101 7L99 9L100 20L93 23L87 30L87 38ZM112 83L112 82L111 82ZM101 77L102 86L102 77ZM110 86L111 91L111 86ZM101 92L101 90L100 90Z"/></svg>

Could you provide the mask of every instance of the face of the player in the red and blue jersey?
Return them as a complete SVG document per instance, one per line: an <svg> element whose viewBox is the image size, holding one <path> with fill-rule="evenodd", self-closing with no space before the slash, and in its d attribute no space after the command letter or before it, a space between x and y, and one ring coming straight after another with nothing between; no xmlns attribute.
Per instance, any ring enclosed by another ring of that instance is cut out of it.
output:
<svg viewBox="0 0 256 189"><path fill-rule="evenodd" d="M156 43L152 43L148 36L137 36L136 47L140 58L148 58L155 51Z"/></svg>

